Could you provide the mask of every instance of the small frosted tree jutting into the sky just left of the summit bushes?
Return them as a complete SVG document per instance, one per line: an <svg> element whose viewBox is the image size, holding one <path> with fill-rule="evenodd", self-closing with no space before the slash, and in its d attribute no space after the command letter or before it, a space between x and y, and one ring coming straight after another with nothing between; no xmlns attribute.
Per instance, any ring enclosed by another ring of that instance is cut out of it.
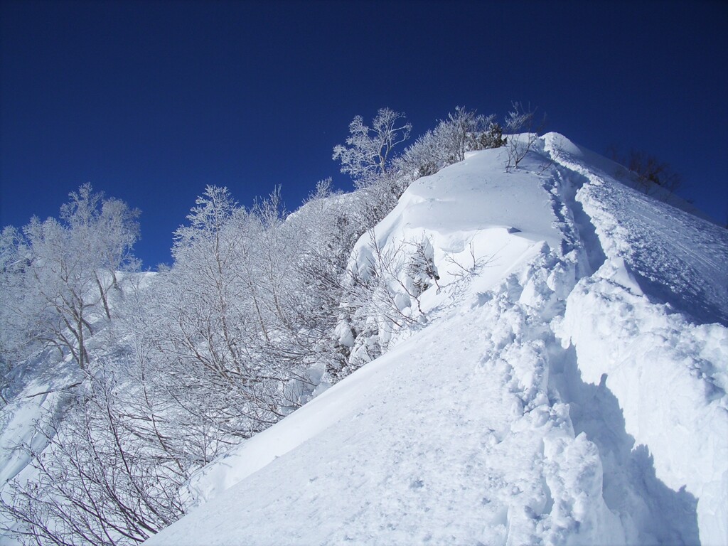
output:
<svg viewBox="0 0 728 546"><path fill-rule="evenodd" d="M389 170L392 150L409 138L411 130L405 114L389 108L379 108L371 127L362 116L355 116L346 145L334 146L333 159L341 161L341 172L349 173L357 187L367 186Z"/></svg>

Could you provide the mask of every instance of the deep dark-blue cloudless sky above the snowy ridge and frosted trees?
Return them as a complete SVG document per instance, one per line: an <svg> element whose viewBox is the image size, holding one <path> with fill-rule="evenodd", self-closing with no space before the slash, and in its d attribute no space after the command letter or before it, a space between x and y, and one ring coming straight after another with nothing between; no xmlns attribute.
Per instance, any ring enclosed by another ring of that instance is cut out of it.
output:
<svg viewBox="0 0 728 546"><path fill-rule="evenodd" d="M57 215L84 182L142 210L169 262L207 184L290 209L356 114L424 132L456 105L539 106L547 130L655 154L728 220L723 1L1 1L0 224Z"/></svg>

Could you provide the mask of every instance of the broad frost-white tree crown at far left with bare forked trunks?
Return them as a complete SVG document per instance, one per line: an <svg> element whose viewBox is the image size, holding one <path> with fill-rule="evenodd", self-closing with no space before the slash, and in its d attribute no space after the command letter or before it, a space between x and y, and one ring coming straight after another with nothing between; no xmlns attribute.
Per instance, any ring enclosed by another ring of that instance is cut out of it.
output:
<svg viewBox="0 0 728 546"><path fill-rule="evenodd" d="M111 318L108 300L118 287L116 272L135 266L131 250L139 232L137 217L138 211L124 202L105 199L85 184L71 192L60 219L33 218L22 237L7 232L3 252L14 257L3 266L4 282L15 293L9 296L16 300L14 326L23 330L12 334L15 339L70 353L85 369L86 341L95 321Z"/></svg>

